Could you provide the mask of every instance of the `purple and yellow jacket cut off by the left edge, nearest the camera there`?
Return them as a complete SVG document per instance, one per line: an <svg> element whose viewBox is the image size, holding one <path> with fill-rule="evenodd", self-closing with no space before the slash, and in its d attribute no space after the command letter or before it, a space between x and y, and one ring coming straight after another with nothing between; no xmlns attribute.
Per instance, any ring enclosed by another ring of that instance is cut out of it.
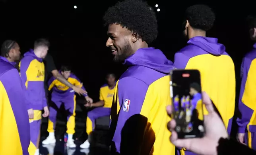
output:
<svg viewBox="0 0 256 155"><path fill-rule="evenodd" d="M0 57L0 155L29 155L29 117L19 72Z"/></svg>

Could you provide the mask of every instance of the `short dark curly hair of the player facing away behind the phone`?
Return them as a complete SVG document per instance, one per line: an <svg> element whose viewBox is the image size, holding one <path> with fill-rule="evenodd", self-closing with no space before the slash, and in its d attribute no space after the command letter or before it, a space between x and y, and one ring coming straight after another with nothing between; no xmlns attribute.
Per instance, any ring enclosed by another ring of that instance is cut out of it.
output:
<svg viewBox="0 0 256 155"><path fill-rule="evenodd" d="M190 26L200 30L210 30L215 21L215 13L209 6L198 4L190 6L185 12L186 20Z"/></svg>

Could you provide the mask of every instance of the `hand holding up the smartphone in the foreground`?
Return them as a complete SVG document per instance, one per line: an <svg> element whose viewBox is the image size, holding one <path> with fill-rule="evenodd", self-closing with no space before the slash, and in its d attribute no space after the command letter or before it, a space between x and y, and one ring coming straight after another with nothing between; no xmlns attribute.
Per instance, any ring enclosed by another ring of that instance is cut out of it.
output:
<svg viewBox="0 0 256 155"><path fill-rule="evenodd" d="M176 147L184 147L200 155L217 155L217 146L220 138L227 138L228 134L219 115L214 111L211 99L203 92L203 103L209 114L204 115L205 136L203 138L178 139L175 131L176 122L172 119L168 122L167 127L172 132L170 141ZM167 113L171 116L172 106L167 106Z"/></svg>

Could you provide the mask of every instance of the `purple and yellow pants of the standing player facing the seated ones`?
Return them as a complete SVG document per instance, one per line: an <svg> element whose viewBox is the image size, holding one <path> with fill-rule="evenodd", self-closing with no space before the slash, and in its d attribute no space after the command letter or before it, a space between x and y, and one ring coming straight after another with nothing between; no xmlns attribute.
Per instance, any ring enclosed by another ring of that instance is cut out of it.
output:
<svg viewBox="0 0 256 155"><path fill-rule="evenodd" d="M29 144L29 154L34 155L37 149L37 139L40 134L41 129L41 118L42 112L41 110L34 110L34 118L29 119L30 126L30 144Z"/></svg>

